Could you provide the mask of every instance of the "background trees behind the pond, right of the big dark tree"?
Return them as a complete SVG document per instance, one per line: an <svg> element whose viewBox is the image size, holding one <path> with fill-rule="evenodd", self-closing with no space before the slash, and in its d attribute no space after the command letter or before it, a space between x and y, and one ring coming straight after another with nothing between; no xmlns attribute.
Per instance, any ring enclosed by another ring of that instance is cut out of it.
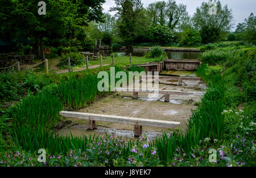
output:
<svg viewBox="0 0 256 178"><path fill-rule="evenodd" d="M210 2L216 5L216 14L209 13ZM186 5L175 0L156 1L147 7L140 0L115 0L110 11L115 12L112 31L108 31L112 44L208 44L221 40L222 33L233 27L232 10L218 0L203 2L193 16L188 15ZM101 24L97 26L102 29Z"/></svg>

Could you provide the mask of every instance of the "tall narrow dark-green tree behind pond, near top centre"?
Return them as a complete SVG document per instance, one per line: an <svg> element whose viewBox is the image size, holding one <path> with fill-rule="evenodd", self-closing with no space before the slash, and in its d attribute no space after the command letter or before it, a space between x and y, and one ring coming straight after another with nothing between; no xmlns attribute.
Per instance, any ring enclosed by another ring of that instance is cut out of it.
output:
<svg viewBox="0 0 256 178"><path fill-rule="evenodd" d="M110 11L117 11L118 28L127 46L131 46L135 37L135 25L143 10L141 0L115 0L115 7Z"/></svg>

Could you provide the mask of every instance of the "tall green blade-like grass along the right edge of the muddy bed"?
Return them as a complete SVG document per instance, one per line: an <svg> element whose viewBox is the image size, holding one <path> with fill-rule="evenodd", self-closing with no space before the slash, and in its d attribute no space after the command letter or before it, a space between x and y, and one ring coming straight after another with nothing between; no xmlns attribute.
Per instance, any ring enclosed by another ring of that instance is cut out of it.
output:
<svg viewBox="0 0 256 178"><path fill-rule="evenodd" d="M207 75L208 66L201 66L197 73L207 80L209 88L201 100L196 111L192 111L186 133L173 133L171 136L164 134L153 142L158 149L160 160L170 164L177 148L189 153L199 144L200 139L211 138L221 140L224 133L224 83L220 74Z"/></svg>

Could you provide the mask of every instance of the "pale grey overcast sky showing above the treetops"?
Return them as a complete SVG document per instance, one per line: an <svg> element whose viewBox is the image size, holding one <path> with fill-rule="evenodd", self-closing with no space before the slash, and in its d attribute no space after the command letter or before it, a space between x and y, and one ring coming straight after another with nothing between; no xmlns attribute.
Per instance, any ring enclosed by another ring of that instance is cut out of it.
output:
<svg viewBox="0 0 256 178"><path fill-rule="evenodd" d="M147 7L150 3L157 2L157 0L141 0L144 7ZM167 0L166 0L167 1ZM189 15L193 15L196 12L196 7L199 7L202 2L208 2L208 0L176 0L177 4L183 3L187 5ZM228 5L228 8L233 10L234 16L234 28L238 23L243 22L245 18L248 18L251 12L256 14L256 0L221 0L222 5ZM108 12L110 7L115 6L114 0L106 0L103 5L104 12ZM111 12L110 14L114 14Z"/></svg>

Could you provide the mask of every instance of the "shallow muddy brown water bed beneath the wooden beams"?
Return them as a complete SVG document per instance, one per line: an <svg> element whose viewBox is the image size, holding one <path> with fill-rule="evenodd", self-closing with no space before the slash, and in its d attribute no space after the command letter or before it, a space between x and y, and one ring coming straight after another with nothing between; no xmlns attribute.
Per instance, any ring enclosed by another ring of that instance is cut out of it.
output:
<svg viewBox="0 0 256 178"><path fill-rule="evenodd" d="M160 80L166 84L159 84L159 88L175 91L193 92L193 95L180 96L171 95L170 102L164 102L162 94L139 93L138 99L132 99L132 92L115 92L115 94L106 96L95 101L89 107L81 109L79 112L96 113L102 115L127 116L137 118L148 118L155 120L177 121L180 122L180 129L186 130L188 119L192 115L191 109L196 109L195 102L201 100L205 92L205 84L199 81L184 81L186 86L177 86L176 81ZM172 84L172 85L168 85ZM134 126L109 122L96 122L96 130L86 130L86 120L72 119L69 126L59 130L62 135L72 133L74 136L100 134L105 132L116 132L117 136L123 139L137 139L134 137ZM143 133L146 133L150 139L158 137L163 132L172 132L173 129L152 128L143 126Z"/></svg>

